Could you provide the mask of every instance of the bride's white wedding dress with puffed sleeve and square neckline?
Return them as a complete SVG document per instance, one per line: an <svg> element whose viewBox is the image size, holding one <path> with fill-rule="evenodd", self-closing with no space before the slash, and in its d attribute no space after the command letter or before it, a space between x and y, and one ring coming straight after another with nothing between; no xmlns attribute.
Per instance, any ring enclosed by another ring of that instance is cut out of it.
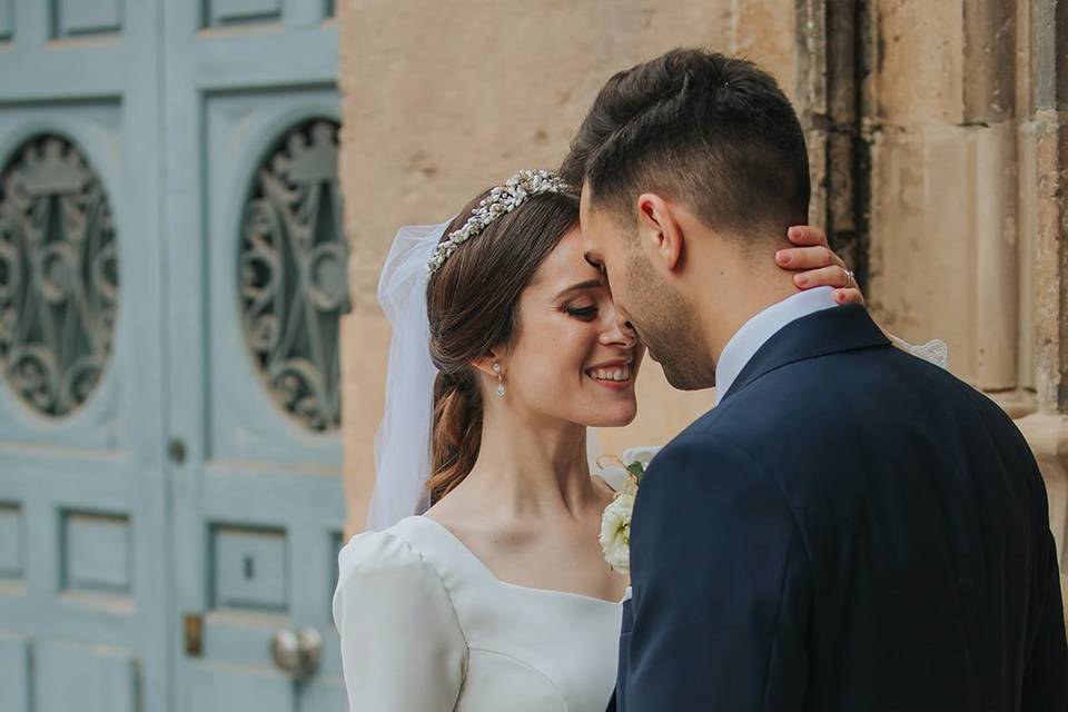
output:
<svg viewBox="0 0 1068 712"><path fill-rule="evenodd" d="M425 516L356 535L339 565L353 712L604 712L620 603L505 583Z"/></svg>

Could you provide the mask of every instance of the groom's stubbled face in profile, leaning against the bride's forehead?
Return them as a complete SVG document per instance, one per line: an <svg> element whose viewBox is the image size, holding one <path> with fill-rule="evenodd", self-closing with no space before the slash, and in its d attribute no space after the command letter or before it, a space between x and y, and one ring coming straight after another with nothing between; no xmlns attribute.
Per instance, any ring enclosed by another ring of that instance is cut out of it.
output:
<svg viewBox="0 0 1068 712"><path fill-rule="evenodd" d="M604 274L621 328L637 335L675 388L715 385L714 366L704 367L710 359L694 309L654 268L636 226L629 234L607 210L593 205L589 187L582 189L580 219L586 261Z"/></svg>

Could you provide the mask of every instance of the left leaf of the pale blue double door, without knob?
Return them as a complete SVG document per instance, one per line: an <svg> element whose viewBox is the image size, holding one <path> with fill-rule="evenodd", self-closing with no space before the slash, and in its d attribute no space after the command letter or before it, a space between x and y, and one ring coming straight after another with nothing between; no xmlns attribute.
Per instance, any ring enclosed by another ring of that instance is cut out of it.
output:
<svg viewBox="0 0 1068 712"><path fill-rule="evenodd" d="M0 0L0 708L166 710L155 2Z"/></svg>

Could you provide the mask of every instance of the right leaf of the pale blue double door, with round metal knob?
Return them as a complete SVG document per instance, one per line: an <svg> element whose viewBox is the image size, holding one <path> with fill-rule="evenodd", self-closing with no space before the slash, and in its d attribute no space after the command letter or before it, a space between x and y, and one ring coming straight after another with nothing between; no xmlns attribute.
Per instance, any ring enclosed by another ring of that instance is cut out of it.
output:
<svg viewBox="0 0 1068 712"><path fill-rule="evenodd" d="M343 710L333 7L165 8L176 709Z"/></svg>

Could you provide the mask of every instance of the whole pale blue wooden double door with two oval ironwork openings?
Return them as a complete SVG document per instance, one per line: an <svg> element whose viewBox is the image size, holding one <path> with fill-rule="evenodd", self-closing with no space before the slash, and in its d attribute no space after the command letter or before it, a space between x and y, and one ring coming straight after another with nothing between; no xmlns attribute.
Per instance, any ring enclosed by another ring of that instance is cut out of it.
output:
<svg viewBox="0 0 1068 712"><path fill-rule="evenodd" d="M0 0L0 709L344 709L328 0Z"/></svg>

